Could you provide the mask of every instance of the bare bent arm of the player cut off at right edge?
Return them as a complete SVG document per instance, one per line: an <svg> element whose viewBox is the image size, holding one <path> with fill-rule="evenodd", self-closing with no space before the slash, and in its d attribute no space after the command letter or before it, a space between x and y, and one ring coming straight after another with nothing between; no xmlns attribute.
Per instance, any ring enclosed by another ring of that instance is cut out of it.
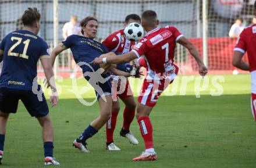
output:
<svg viewBox="0 0 256 168"><path fill-rule="evenodd" d="M250 66L248 65L248 63L242 60L243 56L244 56L244 53L239 51L234 51L232 65L235 67L238 67L241 70L250 71Z"/></svg>

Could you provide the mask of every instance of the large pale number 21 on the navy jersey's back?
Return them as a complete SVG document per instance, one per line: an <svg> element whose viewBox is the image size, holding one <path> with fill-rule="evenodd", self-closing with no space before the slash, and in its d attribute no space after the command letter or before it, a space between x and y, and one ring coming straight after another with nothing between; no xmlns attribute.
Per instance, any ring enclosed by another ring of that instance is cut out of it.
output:
<svg viewBox="0 0 256 168"><path fill-rule="evenodd" d="M26 55L26 54L27 54L27 48L29 47L30 39L27 39L27 40L23 41L24 48L23 48L22 53L12 52L13 49L15 49L18 45L20 45L22 43L22 38L20 38L20 37L11 37L10 40L12 40L12 41L15 40L16 42L8 50L8 56L19 56L19 57L22 57L22 58L29 59L29 56Z"/></svg>

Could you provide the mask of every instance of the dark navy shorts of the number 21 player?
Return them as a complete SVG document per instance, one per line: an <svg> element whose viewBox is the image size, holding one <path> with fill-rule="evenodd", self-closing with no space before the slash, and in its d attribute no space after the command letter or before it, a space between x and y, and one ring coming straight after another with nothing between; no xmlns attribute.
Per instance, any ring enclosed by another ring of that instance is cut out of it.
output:
<svg viewBox="0 0 256 168"><path fill-rule="evenodd" d="M16 113L19 100L22 100L32 117L44 117L49 113L44 94L42 101L39 101L37 95L30 90L0 88L0 110L3 113Z"/></svg>

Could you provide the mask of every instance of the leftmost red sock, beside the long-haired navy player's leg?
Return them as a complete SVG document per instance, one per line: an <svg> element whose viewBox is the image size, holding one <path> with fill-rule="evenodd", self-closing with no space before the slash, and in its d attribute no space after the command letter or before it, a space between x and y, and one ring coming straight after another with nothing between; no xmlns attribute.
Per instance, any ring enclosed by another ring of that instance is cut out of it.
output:
<svg viewBox="0 0 256 168"><path fill-rule="evenodd" d="M116 118L118 117L118 112L112 112L111 118L106 121L106 142L113 142L113 133L116 127Z"/></svg>

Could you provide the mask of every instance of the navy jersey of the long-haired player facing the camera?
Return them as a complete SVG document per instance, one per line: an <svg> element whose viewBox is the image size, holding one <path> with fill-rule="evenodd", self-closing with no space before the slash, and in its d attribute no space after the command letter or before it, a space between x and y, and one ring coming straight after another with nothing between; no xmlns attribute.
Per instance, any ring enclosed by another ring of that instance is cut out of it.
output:
<svg viewBox="0 0 256 168"><path fill-rule="evenodd" d="M76 63L92 62L108 49L101 43L81 35L70 35L62 41L63 47L70 48Z"/></svg>

